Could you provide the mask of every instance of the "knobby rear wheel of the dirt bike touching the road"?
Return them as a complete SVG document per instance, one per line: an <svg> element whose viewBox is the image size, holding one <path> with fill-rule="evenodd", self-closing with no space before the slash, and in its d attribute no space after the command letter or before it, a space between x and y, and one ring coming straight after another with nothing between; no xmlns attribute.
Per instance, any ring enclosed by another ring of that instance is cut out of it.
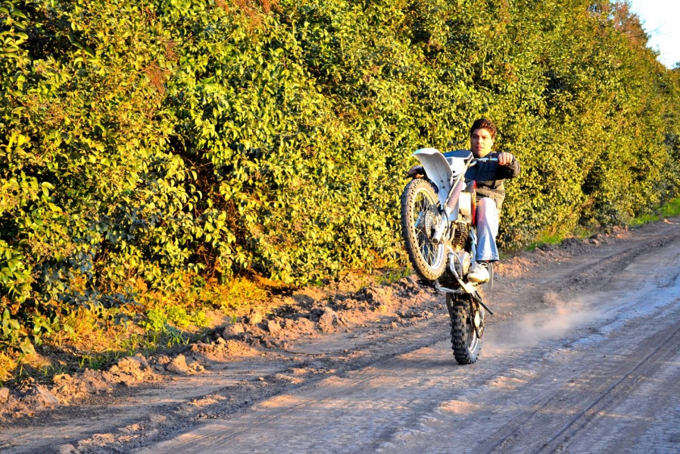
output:
<svg viewBox="0 0 680 454"><path fill-rule="evenodd" d="M476 303L475 303L475 306ZM446 307L451 317L451 348L458 364L473 364L477 361L479 350L482 348L482 339L477 336L477 331L483 333L484 308L477 306L481 318L481 330L475 330L475 314L470 308L470 300L446 294Z"/></svg>

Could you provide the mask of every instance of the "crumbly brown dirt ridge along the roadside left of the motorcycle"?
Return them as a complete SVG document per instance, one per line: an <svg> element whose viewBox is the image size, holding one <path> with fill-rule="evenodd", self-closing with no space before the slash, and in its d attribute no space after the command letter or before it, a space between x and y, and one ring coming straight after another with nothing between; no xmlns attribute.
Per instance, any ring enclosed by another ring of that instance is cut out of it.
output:
<svg viewBox="0 0 680 454"><path fill-rule="evenodd" d="M125 387L194 375L203 372L210 362L255 357L272 348L285 351L289 342L301 337L350 329L375 318L375 314L405 312L414 302L417 305L418 295L428 292L420 288L415 276L356 289L362 283L350 276L332 286L300 289L289 296L274 298L269 312L253 309L173 357L137 354L122 358L105 371L85 369L80 373L58 374L49 385L26 380L17 389L1 388L0 421L80 403L90 396L114 394Z"/></svg>

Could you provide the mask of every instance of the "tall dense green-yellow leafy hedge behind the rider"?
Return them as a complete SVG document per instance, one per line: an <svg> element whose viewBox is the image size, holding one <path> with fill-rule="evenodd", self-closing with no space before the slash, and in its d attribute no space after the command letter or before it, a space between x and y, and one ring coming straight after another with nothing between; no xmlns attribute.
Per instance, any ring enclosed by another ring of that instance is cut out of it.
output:
<svg viewBox="0 0 680 454"><path fill-rule="evenodd" d="M409 155L480 116L522 163L505 246L678 187L679 70L625 3L26 0L0 22L6 342L56 304L404 263Z"/></svg>

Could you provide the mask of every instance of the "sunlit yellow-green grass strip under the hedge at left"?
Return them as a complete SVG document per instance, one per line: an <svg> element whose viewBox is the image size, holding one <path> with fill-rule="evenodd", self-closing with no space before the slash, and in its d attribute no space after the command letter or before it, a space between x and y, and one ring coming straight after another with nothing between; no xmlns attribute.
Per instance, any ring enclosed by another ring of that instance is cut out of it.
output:
<svg viewBox="0 0 680 454"><path fill-rule="evenodd" d="M58 373L105 369L135 353L181 349L212 328L261 307L269 296L262 287L237 278L228 283L201 281L170 295L139 288L136 303L85 308L53 301L49 314L3 301L0 387L50 380ZM12 319L10 314L20 310L31 312L33 329Z"/></svg>

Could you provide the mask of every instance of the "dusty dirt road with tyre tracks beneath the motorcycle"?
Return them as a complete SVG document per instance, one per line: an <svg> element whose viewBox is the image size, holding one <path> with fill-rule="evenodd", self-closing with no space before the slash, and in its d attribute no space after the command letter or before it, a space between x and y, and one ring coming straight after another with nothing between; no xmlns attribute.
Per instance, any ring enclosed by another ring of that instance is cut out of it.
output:
<svg viewBox="0 0 680 454"><path fill-rule="evenodd" d="M678 453L679 276L679 218L574 240L507 260L475 364L420 292L411 319L404 303L6 424L0 451Z"/></svg>

